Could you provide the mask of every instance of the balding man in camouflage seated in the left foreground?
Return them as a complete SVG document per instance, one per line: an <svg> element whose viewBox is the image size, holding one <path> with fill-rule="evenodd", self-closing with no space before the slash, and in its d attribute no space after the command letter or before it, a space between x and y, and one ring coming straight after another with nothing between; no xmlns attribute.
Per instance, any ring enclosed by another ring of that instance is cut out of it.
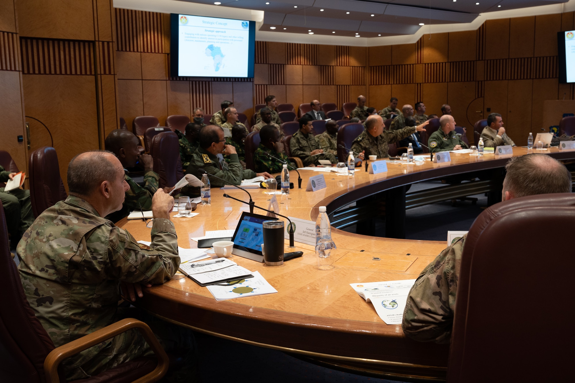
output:
<svg viewBox="0 0 575 383"><path fill-rule="evenodd" d="M18 244L24 294L56 347L135 317L148 322L167 351L191 351L191 331L136 308L118 308L120 284L135 301L135 291L142 296L139 284L163 284L180 264L170 221L174 198L164 190L152 198L150 246L103 218L122 208L129 190L124 177L124 167L110 152L85 152L70 161L70 196L41 213ZM64 359L63 373L66 380L84 379L151 354L139 331L122 332Z"/></svg>

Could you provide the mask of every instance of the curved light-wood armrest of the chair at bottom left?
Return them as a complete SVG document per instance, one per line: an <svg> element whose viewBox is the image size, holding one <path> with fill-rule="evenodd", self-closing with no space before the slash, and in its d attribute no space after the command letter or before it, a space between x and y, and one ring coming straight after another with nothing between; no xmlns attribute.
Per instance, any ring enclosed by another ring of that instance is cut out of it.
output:
<svg viewBox="0 0 575 383"><path fill-rule="evenodd" d="M151 371L151 373L145 374L143 377L135 380L133 383L155 382L160 380L166 374L170 365L166 351L164 351L162 346L160 346L158 339L156 339L154 333L147 324L137 319L126 318L101 328L100 330L94 331L91 334L82 336L82 338L72 340L72 342L68 342L63 346L54 348L44 360L44 373L46 375L46 382L60 382L60 378L58 376L58 366L64 359L71 357L80 351L86 350L87 348L95 346L98 343L102 343L105 340L113 338L122 332L131 330L132 328L136 328L142 333L144 339L146 342L148 342L148 344L150 344L152 351L154 351L154 354L156 354L156 357L158 357L158 366L156 366L156 368Z"/></svg>

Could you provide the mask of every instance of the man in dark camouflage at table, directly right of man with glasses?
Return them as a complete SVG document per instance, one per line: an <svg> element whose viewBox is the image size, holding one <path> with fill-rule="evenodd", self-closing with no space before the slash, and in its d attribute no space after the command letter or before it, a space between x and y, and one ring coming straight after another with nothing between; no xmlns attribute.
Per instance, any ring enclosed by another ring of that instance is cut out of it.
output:
<svg viewBox="0 0 575 383"><path fill-rule="evenodd" d="M280 173L283 168L283 163L296 167L296 165L290 163L289 158L283 154L283 143L279 139L278 129L275 129L273 125L265 125L262 127L259 131L259 139L259 146L254 152L255 171Z"/></svg>

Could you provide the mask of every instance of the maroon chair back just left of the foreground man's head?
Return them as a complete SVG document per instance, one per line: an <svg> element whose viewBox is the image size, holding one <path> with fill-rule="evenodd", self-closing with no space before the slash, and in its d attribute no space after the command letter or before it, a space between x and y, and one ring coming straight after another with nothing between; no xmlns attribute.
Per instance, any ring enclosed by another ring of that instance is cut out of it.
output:
<svg viewBox="0 0 575 383"><path fill-rule="evenodd" d="M58 156L52 147L44 146L30 154L28 179L34 217L39 216L56 202L68 198L64 183L60 178Z"/></svg>

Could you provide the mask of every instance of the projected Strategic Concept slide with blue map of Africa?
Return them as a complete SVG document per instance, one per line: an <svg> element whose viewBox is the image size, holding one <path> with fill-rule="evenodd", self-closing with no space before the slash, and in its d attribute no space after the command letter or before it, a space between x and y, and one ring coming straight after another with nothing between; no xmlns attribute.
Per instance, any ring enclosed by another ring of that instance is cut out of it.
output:
<svg viewBox="0 0 575 383"><path fill-rule="evenodd" d="M247 77L250 23L178 15L178 76Z"/></svg>

